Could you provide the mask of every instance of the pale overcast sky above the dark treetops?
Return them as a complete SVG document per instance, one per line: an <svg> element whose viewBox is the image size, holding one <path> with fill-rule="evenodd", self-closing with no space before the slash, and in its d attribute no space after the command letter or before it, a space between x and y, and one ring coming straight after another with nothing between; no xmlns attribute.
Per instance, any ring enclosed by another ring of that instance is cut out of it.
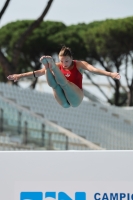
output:
<svg viewBox="0 0 133 200"><path fill-rule="evenodd" d="M0 9L4 2L5 0L0 0ZM11 0L0 26L18 19L36 19L47 2L48 0ZM133 0L54 0L45 20L71 25L128 16L133 16Z"/></svg>

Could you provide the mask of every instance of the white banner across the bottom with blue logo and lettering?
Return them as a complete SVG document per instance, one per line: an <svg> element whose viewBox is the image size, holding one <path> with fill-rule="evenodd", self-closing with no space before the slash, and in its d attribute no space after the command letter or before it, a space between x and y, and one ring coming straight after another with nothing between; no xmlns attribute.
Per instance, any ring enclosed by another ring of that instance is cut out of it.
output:
<svg viewBox="0 0 133 200"><path fill-rule="evenodd" d="M133 200L133 151L0 152L0 200Z"/></svg>

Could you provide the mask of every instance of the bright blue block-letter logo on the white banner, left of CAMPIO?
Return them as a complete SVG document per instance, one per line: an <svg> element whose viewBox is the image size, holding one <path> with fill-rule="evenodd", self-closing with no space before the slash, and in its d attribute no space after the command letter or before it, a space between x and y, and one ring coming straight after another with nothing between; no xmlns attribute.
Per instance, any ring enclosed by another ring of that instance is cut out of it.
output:
<svg viewBox="0 0 133 200"><path fill-rule="evenodd" d="M75 192L75 198L72 199L65 192L21 192L20 200L46 200L47 198L53 198L56 200L86 200L85 192Z"/></svg>

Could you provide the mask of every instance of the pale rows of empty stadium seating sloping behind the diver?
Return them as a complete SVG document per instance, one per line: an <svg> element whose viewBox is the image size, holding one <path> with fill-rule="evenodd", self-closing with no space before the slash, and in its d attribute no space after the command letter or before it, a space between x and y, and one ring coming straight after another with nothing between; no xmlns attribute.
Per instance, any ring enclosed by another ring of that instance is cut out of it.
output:
<svg viewBox="0 0 133 200"><path fill-rule="evenodd" d="M28 110L101 148L133 149L133 112L130 109L91 101L83 101L77 108L64 109L49 93L4 83L0 83L0 95L25 108L23 123L29 117L26 116ZM15 113L13 115L17 120ZM36 123L37 119L31 120L29 126L39 126Z"/></svg>

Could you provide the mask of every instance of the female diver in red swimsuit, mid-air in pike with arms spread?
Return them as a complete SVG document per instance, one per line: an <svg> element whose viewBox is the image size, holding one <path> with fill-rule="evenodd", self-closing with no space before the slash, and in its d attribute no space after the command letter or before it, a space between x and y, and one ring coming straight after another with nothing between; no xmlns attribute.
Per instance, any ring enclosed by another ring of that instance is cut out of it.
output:
<svg viewBox="0 0 133 200"><path fill-rule="evenodd" d="M59 63L55 63L51 56L42 56L40 61L44 68L33 72L9 75L7 78L16 82L23 77L39 77L45 74L48 85L53 89L55 99L64 108L77 107L82 102L84 70L120 79L117 72L107 72L93 67L86 61L73 60L69 47L62 47L59 52L59 60Z"/></svg>

